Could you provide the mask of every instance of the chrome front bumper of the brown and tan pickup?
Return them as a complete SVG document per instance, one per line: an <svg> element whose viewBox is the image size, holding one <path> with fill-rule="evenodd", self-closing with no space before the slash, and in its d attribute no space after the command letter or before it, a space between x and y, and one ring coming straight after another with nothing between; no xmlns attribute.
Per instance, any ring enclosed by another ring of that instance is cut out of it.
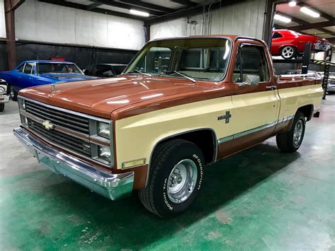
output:
<svg viewBox="0 0 335 251"><path fill-rule="evenodd" d="M22 127L17 127L13 133L39 163L46 165L54 173L69 177L107 199L115 200L126 197L133 189L134 172L109 173L47 146Z"/></svg>

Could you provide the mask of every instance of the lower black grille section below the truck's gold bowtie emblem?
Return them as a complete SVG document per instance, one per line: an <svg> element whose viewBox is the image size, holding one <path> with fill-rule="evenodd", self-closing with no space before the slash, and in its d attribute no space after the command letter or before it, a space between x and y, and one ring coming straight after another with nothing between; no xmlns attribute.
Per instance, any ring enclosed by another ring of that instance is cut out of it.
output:
<svg viewBox="0 0 335 251"><path fill-rule="evenodd" d="M55 130L49 131L42 126L42 124L33 121L28 118L28 127L37 134L40 134L43 139L46 139L52 144L66 148L74 153L79 153L83 156L89 157L90 154L90 143L83 139L76 138L74 136L57 132Z"/></svg>

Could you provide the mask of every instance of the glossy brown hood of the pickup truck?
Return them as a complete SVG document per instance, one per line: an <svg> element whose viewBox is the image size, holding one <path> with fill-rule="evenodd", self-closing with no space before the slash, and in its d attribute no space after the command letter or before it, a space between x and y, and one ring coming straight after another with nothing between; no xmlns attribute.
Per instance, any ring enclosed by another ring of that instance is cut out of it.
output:
<svg viewBox="0 0 335 251"><path fill-rule="evenodd" d="M95 79L71 83L36 86L20 91L33 100L76 110L90 115L110 118L121 107L135 106L180 93L204 90L187 79L123 75L118 78Z"/></svg>

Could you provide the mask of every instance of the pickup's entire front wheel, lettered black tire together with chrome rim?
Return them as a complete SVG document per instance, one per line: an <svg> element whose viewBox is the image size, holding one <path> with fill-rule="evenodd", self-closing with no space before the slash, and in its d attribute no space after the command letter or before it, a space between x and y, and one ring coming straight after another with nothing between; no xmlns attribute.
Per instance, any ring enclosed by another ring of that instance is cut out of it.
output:
<svg viewBox="0 0 335 251"><path fill-rule="evenodd" d="M182 214L198 197L203 168L204 156L192 142L160 144L153 153L148 184L139 191L141 203L162 218Z"/></svg>

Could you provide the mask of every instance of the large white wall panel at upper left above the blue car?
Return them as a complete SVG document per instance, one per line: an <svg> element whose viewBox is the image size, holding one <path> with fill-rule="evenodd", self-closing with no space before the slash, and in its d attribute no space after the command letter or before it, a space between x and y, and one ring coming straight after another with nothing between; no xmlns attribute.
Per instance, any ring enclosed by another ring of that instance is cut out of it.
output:
<svg viewBox="0 0 335 251"><path fill-rule="evenodd" d="M142 21L36 0L16 10L16 38L120 49L140 49L145 42Z"/></svg>

